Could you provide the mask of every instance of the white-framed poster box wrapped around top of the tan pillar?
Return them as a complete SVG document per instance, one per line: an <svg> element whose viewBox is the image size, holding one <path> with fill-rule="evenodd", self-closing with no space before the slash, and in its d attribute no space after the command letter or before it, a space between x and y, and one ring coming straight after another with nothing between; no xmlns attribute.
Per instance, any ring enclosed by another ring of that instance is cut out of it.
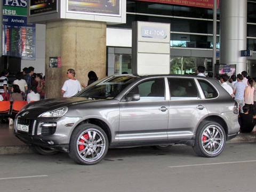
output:
<svg viewBox="0 0 256 192"><path fill-rule="evenodd" d="M126 0L30 0L28 4L30 23L59 19L126 22Z"/></svg>

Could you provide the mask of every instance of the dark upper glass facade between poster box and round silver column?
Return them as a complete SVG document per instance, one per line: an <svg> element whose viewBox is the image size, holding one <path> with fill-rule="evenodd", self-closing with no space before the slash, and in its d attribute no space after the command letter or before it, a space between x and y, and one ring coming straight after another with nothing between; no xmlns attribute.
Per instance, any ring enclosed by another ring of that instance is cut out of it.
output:
<svg viewBox="0 0 256 192"><path fill-rule="evenodd" d="M182 47L191 48L193 44L193 48L212 48L213 10L141 1L127 1L126 4L126 23L109 27L131 29L133 21L170 23L171 46L177 47L182 41ZM219 15L218 10L218 36Z"/></svg>

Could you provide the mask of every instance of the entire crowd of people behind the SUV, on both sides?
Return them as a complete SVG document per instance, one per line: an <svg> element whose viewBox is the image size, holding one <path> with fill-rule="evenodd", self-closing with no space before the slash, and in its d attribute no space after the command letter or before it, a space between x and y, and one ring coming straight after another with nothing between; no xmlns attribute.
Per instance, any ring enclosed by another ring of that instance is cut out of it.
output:
<svg viewBox="0 0 256 192"><path fill-rule="evenodd" d="M87 86L75 78L75 70L67 70L67 78L61 88L63 97L71 97L77 94L83 88L91 85L98 80L94 71L88 73L89 81ZM205 66L198 66L198 76L205 76ZM45 98L45 81L42 73L34 73L33 66L23 68L22 72L17 73L16 79L12 86L9 86L9 71L4 70L0 76L0 101L39 101ZM256 131L256 77L247 76L246 71L229 77L227 74L207 73L207 77L216 78L221 86L235 99L239 106L238 121L241 126L241 132ZM9 124L13 124L13 120L9 118Z"/></svg>

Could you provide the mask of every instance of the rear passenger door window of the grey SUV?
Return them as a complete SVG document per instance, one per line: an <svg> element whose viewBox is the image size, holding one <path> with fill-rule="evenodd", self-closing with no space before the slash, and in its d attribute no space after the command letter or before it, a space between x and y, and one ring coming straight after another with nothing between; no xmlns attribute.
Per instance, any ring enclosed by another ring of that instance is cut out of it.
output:
<svg viewBox="0 0 256 192"><path fill-rule="evenodd" d="M168 84L171 100L178 98L184 99L184 97L189 97L189 99L198 98L194 79L169 78Z"/></svg>

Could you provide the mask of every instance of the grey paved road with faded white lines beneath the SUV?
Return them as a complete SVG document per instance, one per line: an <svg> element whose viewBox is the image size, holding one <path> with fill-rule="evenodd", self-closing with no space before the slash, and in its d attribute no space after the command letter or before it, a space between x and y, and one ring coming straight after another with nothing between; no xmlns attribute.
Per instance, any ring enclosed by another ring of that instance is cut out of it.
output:
<svg viewBox="0 0 256 192"><path fill-rule="evenodd" d="M229 143L216 158L198 157L185 145L110 149L91 166L65 153L0 155L0 191L254 192L255 152L256 143Z"/></svg>

